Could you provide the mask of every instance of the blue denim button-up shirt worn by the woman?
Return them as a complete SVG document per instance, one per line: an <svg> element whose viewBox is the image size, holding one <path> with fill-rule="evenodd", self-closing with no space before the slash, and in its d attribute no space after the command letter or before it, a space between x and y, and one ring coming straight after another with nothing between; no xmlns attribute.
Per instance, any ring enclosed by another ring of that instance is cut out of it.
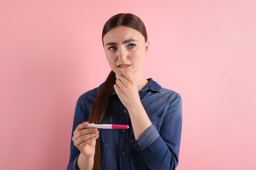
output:
<svg viewBox="0 0 256 170"><path fill-rule="evenodd" d="M83 93L77 100L74 125L86 122L100 88ZM102 169L175 169L181 143L181 96L148 79L139 91L140 101L152 125L135 140L128 110L112 93L102 124L127 124L129 129L100 129ZM91 123L91 122L90 122ZM73 133L72 133L73 134ZM98 141L98 140L97 140ZM79 150L71 141L68 169L79 169Z"/></svg>

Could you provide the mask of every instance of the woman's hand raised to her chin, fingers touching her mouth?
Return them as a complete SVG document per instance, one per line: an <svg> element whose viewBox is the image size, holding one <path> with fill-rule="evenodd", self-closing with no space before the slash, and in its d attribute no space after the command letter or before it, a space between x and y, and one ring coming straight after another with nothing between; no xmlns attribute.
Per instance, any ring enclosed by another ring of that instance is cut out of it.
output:
<svg viewBox="0 0 256 170"><path fill-rule="evenodd" d="M114 84L114 89L116 90L121 103L123 103L127 109L140 103L137 84L129 71L121 68L119 69L118 73L116 73L116 84Z"/></svg>

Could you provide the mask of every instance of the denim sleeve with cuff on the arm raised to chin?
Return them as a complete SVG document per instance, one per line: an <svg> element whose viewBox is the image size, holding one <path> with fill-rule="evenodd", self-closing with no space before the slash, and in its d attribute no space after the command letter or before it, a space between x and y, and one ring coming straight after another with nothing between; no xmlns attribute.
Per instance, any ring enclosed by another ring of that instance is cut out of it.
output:
<svg viewBox="0 0 256 170"><path fill-rule="evenodd" d="M163 117L160 132L154 125L148 127L133 148L139 150L150 169L175 169L179 162L179 149L182 128L181 97L176 95L169 103Z"/></svg>

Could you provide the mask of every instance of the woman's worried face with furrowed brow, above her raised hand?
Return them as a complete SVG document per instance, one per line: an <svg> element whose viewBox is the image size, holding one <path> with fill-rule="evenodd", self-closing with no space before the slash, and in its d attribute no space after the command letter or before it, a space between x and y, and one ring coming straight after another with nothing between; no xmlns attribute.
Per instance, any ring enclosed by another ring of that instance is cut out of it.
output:
<svg viewBox="0 0 256 170"><path fill-rule="evenodd" d="M144 56L148 52L148 41L130 27L116 27L103 37L104 51L112 71L127 69L132 75L142 73Z"/></svg>

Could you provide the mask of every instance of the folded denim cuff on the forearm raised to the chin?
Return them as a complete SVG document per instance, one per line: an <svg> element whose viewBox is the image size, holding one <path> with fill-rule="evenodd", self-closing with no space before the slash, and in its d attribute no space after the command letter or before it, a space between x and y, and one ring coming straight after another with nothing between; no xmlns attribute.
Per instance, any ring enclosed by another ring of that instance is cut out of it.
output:
<svg viewBox="0 0 256 170"><path fill-rule="evenodd" d="M144 150L147 148L150 144L152 144L156 139L159 137L158 130L156 127L152 124L150 127L148 127L139 137L137 141L135 139L132 139L131 143L133 148L136 150Z"/></svg>

